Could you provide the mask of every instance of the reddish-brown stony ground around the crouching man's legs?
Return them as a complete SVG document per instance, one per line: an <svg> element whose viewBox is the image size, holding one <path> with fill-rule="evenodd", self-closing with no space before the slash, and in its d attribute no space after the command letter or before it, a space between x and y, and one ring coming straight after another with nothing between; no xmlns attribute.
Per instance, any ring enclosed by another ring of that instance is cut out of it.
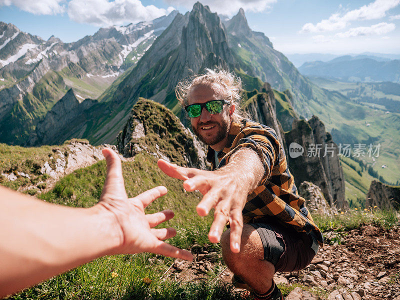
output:
<svg viewBox="0 0 400 300"><path fill-rule="evenodd" d="M304 270L276 273L276 283L297 286L287 300L400 300L400 226L364 225L324 235L326 244ZM169 277L192 281L214 273L217 280L230 281L218 248L194 245L191 251L194 260L175 260Z"/></svg>

